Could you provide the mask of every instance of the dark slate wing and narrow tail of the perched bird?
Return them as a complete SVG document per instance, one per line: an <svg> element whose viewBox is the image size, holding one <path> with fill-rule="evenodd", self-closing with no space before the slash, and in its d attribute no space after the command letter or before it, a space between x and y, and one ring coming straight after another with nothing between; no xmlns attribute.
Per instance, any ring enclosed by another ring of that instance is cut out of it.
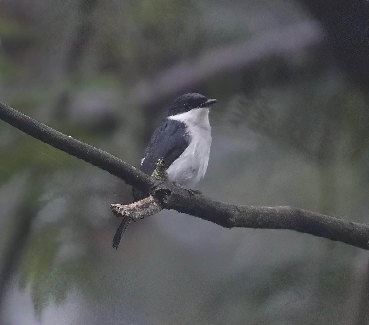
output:
<svg viewBox="0 0 369 325"><path fill-rule="evenodd" d="M184 123L166 119L152 134L140 170L151 175L158 159L162 159L165 167L168 168L186 150L190 141L191 136L187 134ZM144 199L143 193L135 188L132 188L132 196L132 202ZM123 217L112 242L115 249L118 248L120 239L130 221L130 218Z"/></svg>

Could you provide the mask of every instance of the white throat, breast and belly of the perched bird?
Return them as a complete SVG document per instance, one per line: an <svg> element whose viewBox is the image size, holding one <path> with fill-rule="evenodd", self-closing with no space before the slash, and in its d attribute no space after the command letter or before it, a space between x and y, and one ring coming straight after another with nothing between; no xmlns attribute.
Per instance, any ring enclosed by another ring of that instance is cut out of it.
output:
<svg viewBox="0 0 369 325"><path fill-rule="evenodd" d="M195 108L168 118L184 122L188 133L192 136L186 150L169 166L168 179L191 188L204 177L209 162L211 146L209 108Z"/></svg>

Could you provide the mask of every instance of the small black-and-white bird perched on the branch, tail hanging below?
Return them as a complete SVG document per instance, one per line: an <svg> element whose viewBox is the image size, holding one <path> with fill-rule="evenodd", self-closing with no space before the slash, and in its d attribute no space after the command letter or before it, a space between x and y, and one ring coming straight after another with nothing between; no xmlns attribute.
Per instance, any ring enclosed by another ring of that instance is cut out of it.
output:
<svg viewBox="0 0 369 325"><path fill-rule="evenodd" d="M162 160L168 180L191 189L205 175L210 155L210 106L217 102L192 92L178 97L170 106L168 116L154 131L141 160L142 172L151 175L158 160ZM132 190L132 202L143 199L142 192ZM130 223L123 217L112 246L117 249Z"/></svg>

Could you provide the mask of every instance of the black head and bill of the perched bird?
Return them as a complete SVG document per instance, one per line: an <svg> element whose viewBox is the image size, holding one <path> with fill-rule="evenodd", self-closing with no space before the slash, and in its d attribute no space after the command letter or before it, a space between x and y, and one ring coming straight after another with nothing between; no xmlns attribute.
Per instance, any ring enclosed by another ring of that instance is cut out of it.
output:
<svg viewBox="0 0 369 325"><path fill-rule="evenodd" d="M216 102L216 99L207 99L205 96L197 94L197 92L184 94L178 97L170 106L168 116L185 113L194 108L209 107Z"/></svg>

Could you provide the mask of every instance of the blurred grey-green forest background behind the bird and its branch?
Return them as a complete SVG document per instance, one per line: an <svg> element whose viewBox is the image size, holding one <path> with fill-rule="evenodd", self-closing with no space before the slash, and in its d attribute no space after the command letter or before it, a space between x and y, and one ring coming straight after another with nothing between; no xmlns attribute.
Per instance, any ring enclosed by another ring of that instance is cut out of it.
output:
<svg viewBox="0 0 369 325"><path fill-rule="evenodd" d="M139 166L186 92L217 98L198 189L369 220L366 1L3 0L0 100ZM369 324L368 254L173 211L0 121L0 323Z"/></svg>

